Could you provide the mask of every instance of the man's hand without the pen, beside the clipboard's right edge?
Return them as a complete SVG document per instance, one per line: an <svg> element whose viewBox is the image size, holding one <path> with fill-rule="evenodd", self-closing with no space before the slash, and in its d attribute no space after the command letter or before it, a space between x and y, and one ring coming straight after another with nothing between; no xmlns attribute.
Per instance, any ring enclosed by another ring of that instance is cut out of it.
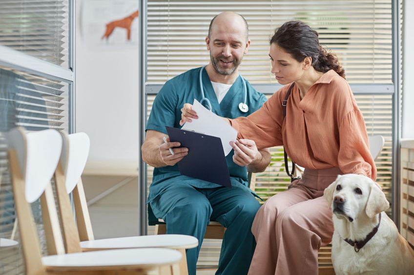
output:
<svg viewBox="0 0 414 275"><path fill-rule="evenodd" d="M230 141L234 149L233 162L240 166L247 166L262 158L256 143L249 139L239 139L235 143Z"/></svg>

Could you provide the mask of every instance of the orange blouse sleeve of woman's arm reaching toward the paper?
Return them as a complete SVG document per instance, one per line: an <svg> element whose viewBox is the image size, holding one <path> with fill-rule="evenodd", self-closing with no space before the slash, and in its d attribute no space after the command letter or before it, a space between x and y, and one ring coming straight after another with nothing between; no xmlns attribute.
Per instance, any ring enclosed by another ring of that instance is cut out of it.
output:
<svg viewBox="0 0 414 275"><path fill-rule="evenodd" d="M283 145L281 93L279 90L273 94L259 110L247 117L230 119L231 126L238 131L238 138L253 140L258 149Z"/></svg>

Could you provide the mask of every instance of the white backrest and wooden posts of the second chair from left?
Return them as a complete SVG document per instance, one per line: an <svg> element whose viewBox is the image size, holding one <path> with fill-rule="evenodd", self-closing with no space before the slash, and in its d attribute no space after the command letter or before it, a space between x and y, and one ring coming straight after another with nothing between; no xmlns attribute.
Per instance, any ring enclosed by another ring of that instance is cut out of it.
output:
<svg viewBox="0 0 414 275"><path fill-rule="evenodd" d="M81 252L81 237L76 228L72 208L70 206L68 193L73 191L75 209L79 208L78 201L84 199L81 175L89 153L89 137L85 133L66 134L61 132L62 156L60 165L56 168L55 183L58 204L61 213L63 239L66 243L66 253ZM86 200L81 202L86 207ZM82 208L82 207L81 207ZM82 208L82 213L76 212L78 228L87 228L87 235L93 239L92 226L90 225L89 213Z"/></svg>

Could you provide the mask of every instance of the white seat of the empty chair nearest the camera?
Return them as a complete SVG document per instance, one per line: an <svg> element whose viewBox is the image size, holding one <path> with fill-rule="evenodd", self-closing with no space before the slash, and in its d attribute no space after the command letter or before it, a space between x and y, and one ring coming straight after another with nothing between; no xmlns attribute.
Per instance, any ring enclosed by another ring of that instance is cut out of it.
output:
<svg viewBox="0 0 414 275"><path fill-rule="evenodd" d="M53 268L146 267L168 265L181 260L181 253L164 248L118 249L42 257L44 266Z"/></svg>

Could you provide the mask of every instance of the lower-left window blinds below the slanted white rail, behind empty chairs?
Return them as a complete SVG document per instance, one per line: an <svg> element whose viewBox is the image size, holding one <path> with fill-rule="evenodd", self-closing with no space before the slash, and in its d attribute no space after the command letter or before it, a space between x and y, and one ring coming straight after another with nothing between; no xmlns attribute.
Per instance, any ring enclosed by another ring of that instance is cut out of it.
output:
<svg viewBox="0 0 414 275"><path fill-rule="evenodd" d="M20 242L8 169L6 132L16 126L27 130L68 130L68 83L0 65L0 238ZM32 204L41 231L39 202ZM41 245L45 239L41 233ZM0 248L1 274L23 274L20 245ZM4 273L3 273L4 272Z"/></svg>

